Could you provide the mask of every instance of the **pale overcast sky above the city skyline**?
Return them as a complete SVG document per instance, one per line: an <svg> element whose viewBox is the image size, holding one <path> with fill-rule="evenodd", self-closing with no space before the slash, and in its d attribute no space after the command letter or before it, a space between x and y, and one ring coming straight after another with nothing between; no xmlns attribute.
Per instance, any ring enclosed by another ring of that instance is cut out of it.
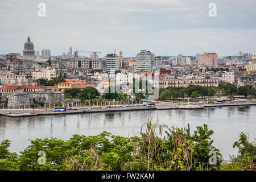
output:
<svg viewBox="0 0 256 182"><path fill-rule="evenodd" d="M38 4L46 4L46 17ZM193 3L192 3L193 2ZM210 17L216 3L217 17ZM141 49L158 55L195 56L239 51L256 54L255 0L0 0L0 54L22 53L30 36L35 51L120 50L124 57ZM89 53L86 55L89 56Z"/></svg>

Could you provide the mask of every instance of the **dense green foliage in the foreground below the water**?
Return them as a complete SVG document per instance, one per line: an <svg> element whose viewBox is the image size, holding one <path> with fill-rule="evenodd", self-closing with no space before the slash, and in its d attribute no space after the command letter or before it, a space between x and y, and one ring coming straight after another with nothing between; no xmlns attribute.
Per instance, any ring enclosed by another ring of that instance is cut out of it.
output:
<svg viewBox="0 0 256 182"><path fill-rule="evenodd" d="M159 129L159 134L156 130ZM166 135L162 138L162 134ZM96 136L73 135L67 141L56 138L31 140L20 155L9 152L10 140L0 144L0 170L220 170L255 169L255 143L244 134L234 143L240 155L236 163L222 163L214 147L207 125L197 127L193 134L187 128L168 128L148 122L146 131L135 137L120 137L104 131ZM40 151L45 152L40 160ZM216 163L210 164L210 152ZM234 167L235 166L235 167Z"/></svg>

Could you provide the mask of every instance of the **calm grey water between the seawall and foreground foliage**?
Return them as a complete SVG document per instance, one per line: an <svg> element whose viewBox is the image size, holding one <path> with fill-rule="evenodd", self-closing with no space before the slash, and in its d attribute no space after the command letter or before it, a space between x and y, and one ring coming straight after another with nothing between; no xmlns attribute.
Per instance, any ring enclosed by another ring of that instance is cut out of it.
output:
<svg viewBox="0 0 256 182"><path fill-rule="evenodd" d="M191 131L206 123L214 131L213 145L220 149L224 159L237 155L233 143L241 132L256 138L256 106L206 108L203 110L144 110L115 113L46 115L38 117L0 117L0 141L11 140L10 151L23 151L35 138L69 139L73 134L97 135L108 131L114 135L131 137L151 119L153 123L186 127Z"/></svg>

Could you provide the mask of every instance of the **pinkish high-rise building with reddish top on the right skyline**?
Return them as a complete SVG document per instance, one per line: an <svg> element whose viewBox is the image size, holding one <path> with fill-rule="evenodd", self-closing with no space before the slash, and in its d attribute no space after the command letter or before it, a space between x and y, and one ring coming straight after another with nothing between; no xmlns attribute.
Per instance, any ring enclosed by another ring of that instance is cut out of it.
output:
<svg viewBox="0 0 256 182"><path fill-rule="evenodd" d="M208 53L204 52L203 55L199 55L198 58L198 64L199 65L204 65L207 67L217 67L218 66L218 55L217 53Z"/></svg>

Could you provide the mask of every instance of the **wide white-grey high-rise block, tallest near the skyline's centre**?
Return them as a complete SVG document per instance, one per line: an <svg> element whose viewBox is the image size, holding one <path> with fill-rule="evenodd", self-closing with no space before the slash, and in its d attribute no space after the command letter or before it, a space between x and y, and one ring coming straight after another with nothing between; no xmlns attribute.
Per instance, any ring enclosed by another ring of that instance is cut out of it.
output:
<svg viewBox="0 0 256 182"><path fill-rule="evenodd" d="M135 71L147 72L154 71L155 68L155 54L150 51L141 50L136 56Z"/></svg>

